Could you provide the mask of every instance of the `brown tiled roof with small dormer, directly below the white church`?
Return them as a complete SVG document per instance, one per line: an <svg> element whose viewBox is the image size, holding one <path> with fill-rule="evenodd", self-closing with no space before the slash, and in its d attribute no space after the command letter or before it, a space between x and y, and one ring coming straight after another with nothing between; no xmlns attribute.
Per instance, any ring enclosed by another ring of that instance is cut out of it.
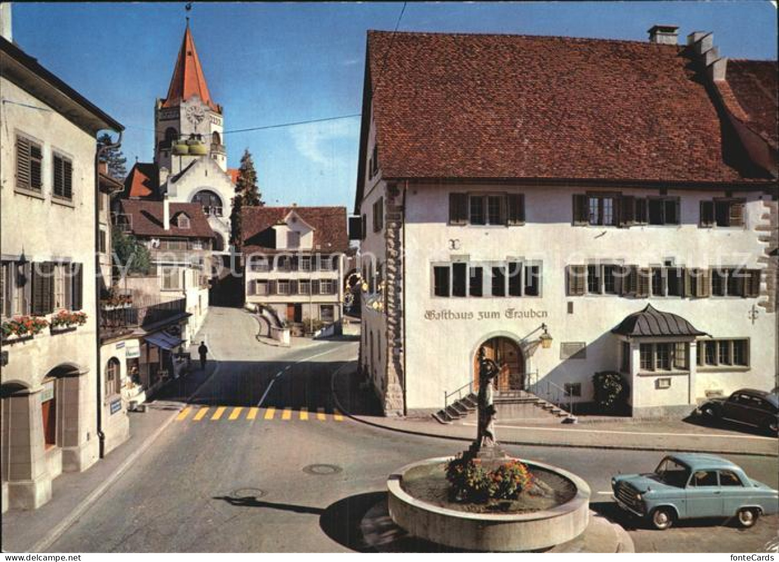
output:
<svg viewBox="0 0 779 562"><path fill-rule="evenodd" d="M122 214L129 215L130 232L136 236L213 238L203 207L199 203L169 203L171 228L163 227L162 201L122 200ZM189 228L178 228L173 220L178 214L189 217Z"/></svg>

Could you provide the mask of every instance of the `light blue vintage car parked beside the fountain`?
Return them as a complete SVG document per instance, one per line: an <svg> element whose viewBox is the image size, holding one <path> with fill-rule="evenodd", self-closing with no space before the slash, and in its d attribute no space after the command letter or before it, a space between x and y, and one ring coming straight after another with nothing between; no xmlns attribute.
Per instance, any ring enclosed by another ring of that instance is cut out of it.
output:
<svg viewBox="0 0 779 562"><path fill-rule="evenodd" d="M612 491L619 507L657 529L679 519L734 516L751 527L760 515L779 511L777 490L714 454L671 454L650 474L615 476Z"/></svg>

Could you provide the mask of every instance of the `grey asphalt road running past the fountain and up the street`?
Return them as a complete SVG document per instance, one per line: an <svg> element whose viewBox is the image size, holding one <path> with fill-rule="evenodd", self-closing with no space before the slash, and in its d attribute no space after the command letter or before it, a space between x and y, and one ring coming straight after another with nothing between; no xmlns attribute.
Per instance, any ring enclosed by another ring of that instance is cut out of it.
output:
<svg viewBox="0 0 779 562"><path fill-rule="evenodd" d="M386 475L463 447L339 419L330 377L354 359L356 342L270 348L254 340L255 330L254 320L238 309L212 309L206 343L219 369L200 388L196 404L51 552L363 550L358 523L381 497ZM587 480L592 507L624 525L639 552L763 551L777 535L776 517L748 530L723 521L665 532L636 528L615 511L610 478L617 471L651 470L662 456L657 452L507 449ZM754 478L779 484L775 458L733 460Z"/></svg>

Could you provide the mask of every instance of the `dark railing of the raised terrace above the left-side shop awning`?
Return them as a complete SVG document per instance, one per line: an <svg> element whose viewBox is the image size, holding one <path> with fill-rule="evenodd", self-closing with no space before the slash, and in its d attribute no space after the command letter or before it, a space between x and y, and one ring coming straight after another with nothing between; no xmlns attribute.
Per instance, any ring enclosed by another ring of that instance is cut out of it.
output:
<svg viewBox="0 0 779 562"><path fill-rule="evenodd" d="M185 311L186 299L162 302L160 299L136 297L130 305L104 306L100 308L100 338L117 338Z"/></svg>

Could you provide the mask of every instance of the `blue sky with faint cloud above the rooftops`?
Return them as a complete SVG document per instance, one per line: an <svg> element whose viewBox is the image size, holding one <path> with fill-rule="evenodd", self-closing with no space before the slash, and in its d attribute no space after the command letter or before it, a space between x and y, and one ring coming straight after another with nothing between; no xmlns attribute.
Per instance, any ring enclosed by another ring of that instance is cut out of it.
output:
<svg viewBox="0 0 779 562"><path fill-rule="evenodd" d="M153 104L167 85L185 3L13 5L27 53L122 122L128 162L150 161ZM359 113L365 31L393 30L401 3L194 3L192 32L225 130ZM647 40L654 23L714 32L730 58L777 58L770 2L409 3L400 30ZM225 136L252 152L269 204L351 208L359 118Z"/></svg>

